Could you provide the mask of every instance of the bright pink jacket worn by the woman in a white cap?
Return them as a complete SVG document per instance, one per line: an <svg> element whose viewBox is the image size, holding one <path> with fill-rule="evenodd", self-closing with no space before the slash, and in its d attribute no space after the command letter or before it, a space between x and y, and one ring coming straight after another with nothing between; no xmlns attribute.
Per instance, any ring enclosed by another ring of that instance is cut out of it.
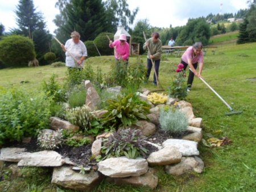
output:
<svg viewBox="0 0 256 192"><path fill-rule="evenodd" d="M129 58L130 47L129 47L129 44L127 43L127 41L125 41L124 45L121 45L120 40L115 40L112 44L109 44L110 48L113 48L114 46L116 49L116 52L115 52L116 59L119 59L120 56L123 60L127 60Z"/></svg>

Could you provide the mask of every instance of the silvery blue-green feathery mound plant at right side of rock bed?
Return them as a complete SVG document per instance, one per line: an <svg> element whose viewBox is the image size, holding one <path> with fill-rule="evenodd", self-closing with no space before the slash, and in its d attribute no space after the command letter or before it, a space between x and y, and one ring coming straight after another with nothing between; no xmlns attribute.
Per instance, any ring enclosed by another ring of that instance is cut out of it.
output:
<svg viewBox="0 0 256 192"><path fill-rule="evenodd" d="M187 116L183 112L173 109L165 111L161 108L159 123L162 130L177 135L185 132L188 127Z"/></svg>

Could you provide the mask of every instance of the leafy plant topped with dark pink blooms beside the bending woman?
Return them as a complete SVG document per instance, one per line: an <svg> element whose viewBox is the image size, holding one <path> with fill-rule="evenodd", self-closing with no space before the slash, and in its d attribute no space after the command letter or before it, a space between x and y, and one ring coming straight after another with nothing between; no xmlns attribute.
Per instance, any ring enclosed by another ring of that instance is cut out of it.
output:
<svg viewBox="0 0 256 192"><path fill-rule="evenodd" d="M168 93L170 97L178 98L180 100L184 100L187 95L187 82L185 80L185 70L184 65L179 64L176 69L177 75L174 80L171 82L171 86L168 87Z"/></svg>

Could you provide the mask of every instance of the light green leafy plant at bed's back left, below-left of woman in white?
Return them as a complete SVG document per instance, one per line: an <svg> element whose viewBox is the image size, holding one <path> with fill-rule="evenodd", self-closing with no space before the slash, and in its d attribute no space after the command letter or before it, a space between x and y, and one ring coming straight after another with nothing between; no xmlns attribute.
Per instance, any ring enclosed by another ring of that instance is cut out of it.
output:
<svg viewBox="0 0 256 192"><path fill-rule="evenodd" d="M61 89L61 86L55 80L56 77L57 75L53 73L48 83L43 81L43 90L48 97L52 97L53 101L65 101L65 91Z"/></svg>

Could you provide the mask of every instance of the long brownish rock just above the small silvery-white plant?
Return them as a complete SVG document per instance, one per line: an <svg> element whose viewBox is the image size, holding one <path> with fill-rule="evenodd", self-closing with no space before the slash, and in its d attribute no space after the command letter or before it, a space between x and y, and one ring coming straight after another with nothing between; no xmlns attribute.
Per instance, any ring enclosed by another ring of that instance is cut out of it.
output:
<svg viewBox="0 0 256 192"><path fill-rule="evenodd" d="M69 123L67 120L63 120L57 117L51 117L50 118L50 127L52 130L70 130L73 132L79 131L79 126L75 126L72 123Z"/></svg>

